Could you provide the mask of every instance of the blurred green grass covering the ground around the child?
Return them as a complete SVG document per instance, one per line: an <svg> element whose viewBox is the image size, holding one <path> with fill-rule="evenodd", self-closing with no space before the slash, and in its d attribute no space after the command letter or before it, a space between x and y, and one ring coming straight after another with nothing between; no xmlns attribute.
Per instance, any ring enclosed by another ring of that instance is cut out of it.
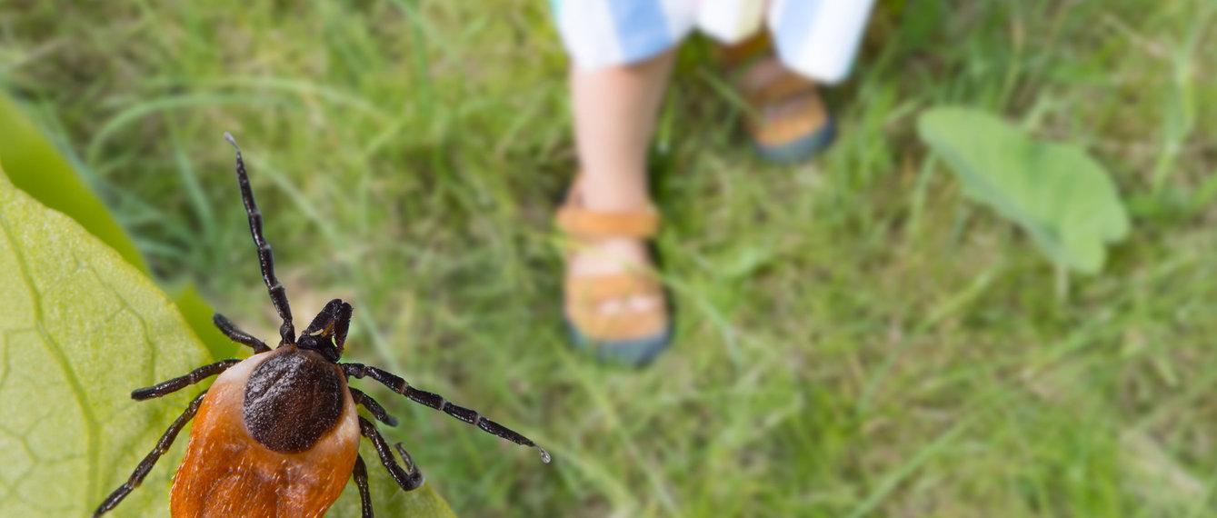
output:
<svg viewBox="0 0 1217 518"><path fill-rule="evenodd" d="M352 300L349 357L554 452L371 389L459 514L1202 517L1215 22L1205 0L880 2L830 92L841 140L791 169L741 145L710 44L686 46L654 161L679 340L638 372L559 325L574 161L543 1L6 0L0 83L162 280L269 337L231 131L297 319ZM941 103L1112 171L1133 232L1104 274L1055 295L915 139Z"/></svg>

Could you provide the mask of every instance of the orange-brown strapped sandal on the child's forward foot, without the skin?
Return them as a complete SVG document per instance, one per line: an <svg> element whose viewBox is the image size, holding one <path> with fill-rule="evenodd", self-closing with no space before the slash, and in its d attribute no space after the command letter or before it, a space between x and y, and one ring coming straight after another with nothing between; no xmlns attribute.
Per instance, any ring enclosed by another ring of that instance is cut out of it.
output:
<svg viewBox="0 0 1217 518"><path fill-rule="evenodd" d="M655 209L641 213L600 213L582 207L576 178L566 202L557 209L557 227L576 243L606 237L647 240L660 227ZM577 244L576 244L577 246ZM655 258L654 249L651 257ZM567 250L567 263L574 250ZM596 359L643 366L672 343L671 298L652 271L634 269L610 275L573 276L567 269L563 280L562 316L572 344L594 351ZM605 314L611 300L629 297L658 297L662 304L647 310L623 310Z"/></svg>

